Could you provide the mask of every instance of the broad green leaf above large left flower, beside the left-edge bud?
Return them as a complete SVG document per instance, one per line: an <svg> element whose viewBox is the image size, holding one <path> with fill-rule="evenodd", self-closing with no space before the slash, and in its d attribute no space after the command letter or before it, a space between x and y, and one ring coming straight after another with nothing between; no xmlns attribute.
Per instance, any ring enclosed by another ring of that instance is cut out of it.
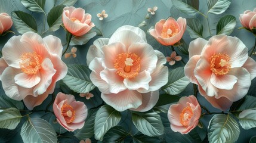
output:
<svg viewBox="0 0 256 143"><path fill-rule="evenodd" d="M11 17L18 33L37 32L38 27L36 20L32 15L24 13L23 11L13 11Z"/></svg>

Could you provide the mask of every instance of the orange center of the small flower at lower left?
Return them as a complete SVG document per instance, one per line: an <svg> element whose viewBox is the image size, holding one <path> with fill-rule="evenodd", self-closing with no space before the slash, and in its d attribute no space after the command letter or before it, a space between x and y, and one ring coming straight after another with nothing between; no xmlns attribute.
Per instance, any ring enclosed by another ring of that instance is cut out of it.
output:
<svg viewBox="0 0 256 143"><path fill-rule="evenodd" d="M75 110L73 109L73 107L69 104L64 104L61 107L61 116L64 117L65 121L67 123L72 123L73 120L75 120Z"/></svg>

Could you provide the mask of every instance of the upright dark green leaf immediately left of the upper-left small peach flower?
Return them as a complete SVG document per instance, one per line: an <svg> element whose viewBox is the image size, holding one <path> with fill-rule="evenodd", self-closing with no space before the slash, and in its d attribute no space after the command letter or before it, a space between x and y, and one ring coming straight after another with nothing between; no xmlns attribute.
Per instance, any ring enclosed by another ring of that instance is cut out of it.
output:
<svg viewBox="0 0 256 143"><path fill-rule="evenodd" d="M49 26L49 31L55 32L60 28L60 25L63 23L62 21L62 12L64 5L58 5L50 10L47 15L47 23Z"/></svg>

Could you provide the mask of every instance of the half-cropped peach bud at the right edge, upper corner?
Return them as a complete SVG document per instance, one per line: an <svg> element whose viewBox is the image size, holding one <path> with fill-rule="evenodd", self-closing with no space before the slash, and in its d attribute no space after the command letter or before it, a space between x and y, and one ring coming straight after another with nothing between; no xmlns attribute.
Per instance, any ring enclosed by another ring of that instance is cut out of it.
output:
<svg viewBox="0 0 256 143"><path fill-rule="evenodd" d="M243 14L240 14L240 23L243 27L248 30L252 30L252 28L256 28L256 8L254 11L246 10Z"/></svg>

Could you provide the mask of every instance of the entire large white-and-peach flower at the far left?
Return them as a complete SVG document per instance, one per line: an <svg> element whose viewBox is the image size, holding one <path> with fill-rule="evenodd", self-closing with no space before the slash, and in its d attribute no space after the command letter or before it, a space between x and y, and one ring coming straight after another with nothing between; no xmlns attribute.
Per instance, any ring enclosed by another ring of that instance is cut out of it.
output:
<svg viewBox="0 0 256 143"><path fill-rule="evenodd" d="M55 36L41 38L28 32L13 36L2 48L0 80L5 94L23 100L29 110L52 94L67 66L61 61L62 45Z"/></svg>

